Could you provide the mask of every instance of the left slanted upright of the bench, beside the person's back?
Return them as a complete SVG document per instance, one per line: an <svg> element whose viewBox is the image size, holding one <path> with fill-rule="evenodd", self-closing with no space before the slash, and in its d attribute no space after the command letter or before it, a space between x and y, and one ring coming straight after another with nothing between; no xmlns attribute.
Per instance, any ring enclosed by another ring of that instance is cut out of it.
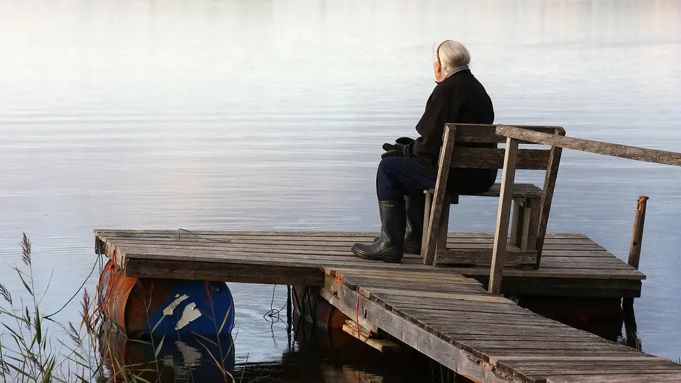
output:
<svg viewBox="0 0 681 383"><path fill-rule="evenodd" d="M424 264L426 265L432 265L432 262L435 259L437 235L440 229L440 217L442 215L442 209L445 201L447 179L449 177L450 163L452 162L452 148L454 148L454 135L456 135L456 133L456 128L452 128L450 126L446 126L443 133L442 148L440 150L440 158L438 162L437 180L435 181L432 207L430 209L430 217L428 218L428 235L426 235L426 243L422 249Z"/></svg>

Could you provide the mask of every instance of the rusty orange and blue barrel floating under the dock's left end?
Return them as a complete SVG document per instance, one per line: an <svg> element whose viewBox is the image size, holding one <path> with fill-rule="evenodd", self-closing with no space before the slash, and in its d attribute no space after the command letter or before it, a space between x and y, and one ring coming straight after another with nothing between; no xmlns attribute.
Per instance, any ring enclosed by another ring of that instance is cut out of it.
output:
<svg viewBox="0 0 681 383"><path fill-rule="evenodd" d="M216 336L234 325L226 283L126 277L110 259L97 290L104 322L126 336Z"/></svg>

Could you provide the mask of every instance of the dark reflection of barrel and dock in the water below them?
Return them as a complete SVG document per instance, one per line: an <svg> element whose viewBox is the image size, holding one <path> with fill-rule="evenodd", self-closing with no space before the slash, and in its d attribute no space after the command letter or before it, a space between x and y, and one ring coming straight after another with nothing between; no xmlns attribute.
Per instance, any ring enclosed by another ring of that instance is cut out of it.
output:
<svg viewBox="0 0 681 383"><path fill-rule="evenodd" d="M278 360L235 363L231 336L140 340L105 329L100 339L106 382L136 376L150 382L297 382L297 383L406 383L454 382L454 374L422 353L402 347L381 353L340 329L323 329L309 321L295 321L286 351ZM220 348L222 347L222 348ZM224 375L217 366L224 356ZM124 366L124 367L123 367ZM160 373L159 373L160 371ZM226 377L226 379L225 379Z"/></svg>

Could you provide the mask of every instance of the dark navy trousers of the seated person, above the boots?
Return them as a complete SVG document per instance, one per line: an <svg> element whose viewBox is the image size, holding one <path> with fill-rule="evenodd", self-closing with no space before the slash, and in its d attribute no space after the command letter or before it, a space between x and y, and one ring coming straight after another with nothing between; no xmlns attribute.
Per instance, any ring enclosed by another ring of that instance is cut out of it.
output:
<svg viewBox="0 0 681 383"><path fill-rule="evenodd" d="M376 194L380 201L402 200L435 187L437 170L417 159L386 157L378 164Z"/></svg>

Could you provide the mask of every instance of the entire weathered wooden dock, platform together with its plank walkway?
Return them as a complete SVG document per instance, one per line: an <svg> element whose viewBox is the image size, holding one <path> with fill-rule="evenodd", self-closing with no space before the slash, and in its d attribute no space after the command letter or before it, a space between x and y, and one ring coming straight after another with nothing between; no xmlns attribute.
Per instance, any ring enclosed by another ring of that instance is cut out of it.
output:
<svg viewBox="0 0 681 383"><path fill-rule="evenodd" d="M476 382L681 382L681 365L669 359L487 292L478 279L489 268L426 266L418 256L385 264L351 254L352 243L374 235L95 230L95 251L131 277L320 286L360 332L389 334ZM493 240L450 233L448 247L491 248ZM584 235L552 234L540 268L505 270L503 291L638 297L643 279Z"/></svg>

